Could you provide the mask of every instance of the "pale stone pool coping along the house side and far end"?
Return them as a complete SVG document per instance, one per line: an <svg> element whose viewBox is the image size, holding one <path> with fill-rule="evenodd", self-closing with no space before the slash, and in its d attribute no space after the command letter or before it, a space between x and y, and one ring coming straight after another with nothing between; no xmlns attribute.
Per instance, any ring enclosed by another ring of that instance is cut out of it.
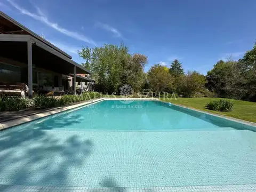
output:
<svg viewBox="0 0 256 192"><path fill-rule="evenodd" d="M82 107L82 106L85 106L85 105L90 105L94 102L103 101L103 100L143 100L143 101L144 100L145 101L152 101L153 100L153 101L158 101L159 99L157 99L157 98L99 98L99 99L92 99L92 100L89 100L89 101L85 101L85 102L82 102L82 103L77 103L77 104L70 105L70 106L55 107L55 108L52 108L52 110L50 110L50 111L44 111L42 113L37 113L37 114L34 114L34 115L21 117L21 118L18 118L18 119L14 119L14 120L11 120L11 121L6 121L6 122L3 122L3 123L0 123L0 131L8 129L8 128L13 127L13 126L23 124L23 123L31 122L31 121L34 121L34 120L39 119L39 118L43 118L43 117L47 117L47 116L50 116L50 115L58 114L58 113L61 113L62 111L75 109L75 108Z"/></svg>

